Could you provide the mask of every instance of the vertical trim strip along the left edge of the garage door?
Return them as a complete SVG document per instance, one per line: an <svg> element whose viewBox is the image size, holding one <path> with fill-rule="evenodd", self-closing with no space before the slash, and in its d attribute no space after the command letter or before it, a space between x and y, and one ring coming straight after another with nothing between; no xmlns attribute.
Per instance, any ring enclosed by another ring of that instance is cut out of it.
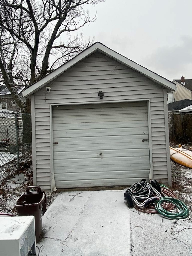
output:
<svg viewBox="0 0 192 256"><path fill-rule="evenodd" d="M50 185L51 193L56 190L54 167L53 167L53 122L52 122L52 105L50 104Z"/></svg>

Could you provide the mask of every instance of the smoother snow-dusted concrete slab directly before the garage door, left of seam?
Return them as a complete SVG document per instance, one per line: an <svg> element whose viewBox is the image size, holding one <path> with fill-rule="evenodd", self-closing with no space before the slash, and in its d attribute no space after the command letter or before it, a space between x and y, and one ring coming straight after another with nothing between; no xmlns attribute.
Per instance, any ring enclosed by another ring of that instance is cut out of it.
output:
<svg viewBox="0 0 192 256"><path fill-rule="evenodd" d="M40 256L129 256L123 191L61 192L43 216L42 236Z"/></svg>

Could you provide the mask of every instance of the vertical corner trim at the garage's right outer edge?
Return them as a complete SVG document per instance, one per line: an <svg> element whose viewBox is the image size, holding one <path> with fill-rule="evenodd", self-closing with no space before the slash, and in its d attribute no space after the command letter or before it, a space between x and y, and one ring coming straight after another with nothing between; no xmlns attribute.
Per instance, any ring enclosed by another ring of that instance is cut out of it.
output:
<svg viewBox="0 0 192 256"><path fill-rule="evenodd" d="M172 187L171 180L171 160L170 160L170 148L169 148L169 125L168 125L168 107L167 107L167 89L163 89L164 93L164 115L165 115L165 140L166 140L166 152L167 152L167 176L168 185Z"/></svg>

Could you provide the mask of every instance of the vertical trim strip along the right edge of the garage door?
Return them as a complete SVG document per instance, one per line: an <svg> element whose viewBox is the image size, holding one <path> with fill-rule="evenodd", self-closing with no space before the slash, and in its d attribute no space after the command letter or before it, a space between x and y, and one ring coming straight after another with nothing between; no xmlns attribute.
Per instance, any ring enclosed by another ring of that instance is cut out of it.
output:
<svg viewBox="0 0 192 256"><path fill-rule="evenodd" d="M149 179L153 179L153 158L152 158L152 133L151 133L151 104L150 99L147 101L147 117L148 117L148 130L149 130L149 159L150 159L150 172Z"/></svg>

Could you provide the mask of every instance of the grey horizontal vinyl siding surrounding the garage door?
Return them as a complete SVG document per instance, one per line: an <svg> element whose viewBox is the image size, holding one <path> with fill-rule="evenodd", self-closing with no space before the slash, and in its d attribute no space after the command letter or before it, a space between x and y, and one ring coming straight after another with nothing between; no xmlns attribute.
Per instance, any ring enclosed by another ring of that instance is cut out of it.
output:
<svg viewBox="0 0 192 256"><path fill-rule="evenodd" d="M74 65L46 88L35 92L37 185L50 190L50 104L138 101L150 99L154 179L167 180L163 87L131 68L94 53ZM99 91L104 92L102 100ZM167 181L166 181L167 182Z"/></svg>

